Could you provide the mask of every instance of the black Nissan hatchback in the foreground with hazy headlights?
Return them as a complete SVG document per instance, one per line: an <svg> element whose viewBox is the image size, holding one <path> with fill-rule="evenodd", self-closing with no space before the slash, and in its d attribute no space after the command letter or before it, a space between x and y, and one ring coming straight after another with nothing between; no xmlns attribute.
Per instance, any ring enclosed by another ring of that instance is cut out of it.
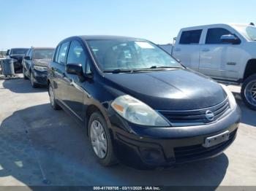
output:
<svg viewBox="0 0 256 191"><path fill-rule="evenodd" d="M48 91L53 109L86 127L102 165L153 168L214 157L234 141L240 120L227 87L144 39L64 39Z"/></svg>

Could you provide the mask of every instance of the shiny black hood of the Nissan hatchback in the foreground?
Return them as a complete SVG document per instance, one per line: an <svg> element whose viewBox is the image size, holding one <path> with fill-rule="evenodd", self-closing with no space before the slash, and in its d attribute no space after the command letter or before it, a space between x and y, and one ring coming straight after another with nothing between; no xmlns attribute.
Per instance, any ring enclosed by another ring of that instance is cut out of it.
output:
<svg viewBox="0 0 256 191"><path fill-rule="evenodd" d="M214 106L227 97L214 80L190 69L105 74L111 89L121 90L153 109L183 110Z"/></svg>

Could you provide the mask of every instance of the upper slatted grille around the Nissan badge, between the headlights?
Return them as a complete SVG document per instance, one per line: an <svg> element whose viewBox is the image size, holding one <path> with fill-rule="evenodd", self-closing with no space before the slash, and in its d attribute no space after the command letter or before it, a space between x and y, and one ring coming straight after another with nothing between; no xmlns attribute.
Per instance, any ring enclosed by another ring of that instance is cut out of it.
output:
<svg viewBox="0 0 256 191"><path fill-rule="evenodd" d="M206 118L206 111L214 113L214 119L208 120ZM209 122L214 122L224 116L224 114L230 110L230 104L228 99L222 101L216 106L211 106L204 109L194 110L162 110L159 111L167 120L169 120L173 126L189 126L189 125L203 125Z"/></svg>

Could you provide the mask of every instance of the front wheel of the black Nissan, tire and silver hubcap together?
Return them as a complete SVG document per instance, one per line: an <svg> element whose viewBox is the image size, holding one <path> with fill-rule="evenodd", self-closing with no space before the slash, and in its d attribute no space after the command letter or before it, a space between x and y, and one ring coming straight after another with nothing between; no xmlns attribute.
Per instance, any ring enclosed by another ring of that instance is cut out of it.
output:
<svg viewBox="0 0 256 191"><path fill-rule="evenodd" d="M98 129L98 131L96 129ZM88 130L91 148L99 163L104 166L117 164L118 162L113 152L113 142L110 136L110 131L108 130L107 123L104 117L102 117L102 114L99 112L91 114L88 123ZM96 137L97 139L95 139ZM100 144L104 145L104 147L99 146ZM98 148L97 145L99 146ZM101 152L97 153L97 150L100 150Z"/></svg>

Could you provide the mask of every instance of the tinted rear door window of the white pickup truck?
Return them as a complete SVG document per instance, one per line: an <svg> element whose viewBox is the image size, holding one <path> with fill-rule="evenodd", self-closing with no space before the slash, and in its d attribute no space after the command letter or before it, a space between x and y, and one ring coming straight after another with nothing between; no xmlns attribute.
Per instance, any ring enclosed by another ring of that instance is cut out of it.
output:
<svg viewBox="0 0 256 191"><path fill-rule="evenodd" d="M181 34L181 39L179 44L199 44L202 31L203 31L202 29L192 30L192 31L183 31Z"/></svg>

